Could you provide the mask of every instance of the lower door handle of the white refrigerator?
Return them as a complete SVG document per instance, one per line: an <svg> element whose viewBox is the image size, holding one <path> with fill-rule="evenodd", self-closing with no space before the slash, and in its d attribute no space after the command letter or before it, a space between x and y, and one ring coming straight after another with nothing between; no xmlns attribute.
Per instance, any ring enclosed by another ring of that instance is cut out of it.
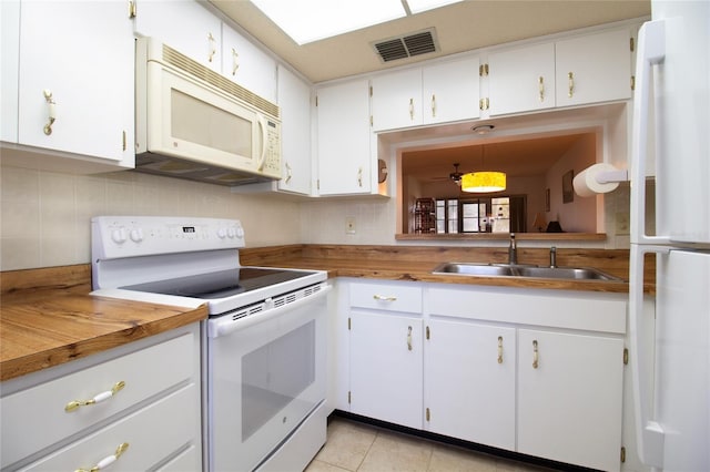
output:
<svg viewBox="0 0 710 472"><path fill-rule="evenodd" d="M643 342L649 322L655 322L643 312L643 258L647 253L668 254L669 247L631 245L629 260L629 340L632 368L631 383L636 440L639 458L646 465L662 468L665 431L653 419L653 366L655 355ZM650 318L650 319L649 319Z"/></svg>

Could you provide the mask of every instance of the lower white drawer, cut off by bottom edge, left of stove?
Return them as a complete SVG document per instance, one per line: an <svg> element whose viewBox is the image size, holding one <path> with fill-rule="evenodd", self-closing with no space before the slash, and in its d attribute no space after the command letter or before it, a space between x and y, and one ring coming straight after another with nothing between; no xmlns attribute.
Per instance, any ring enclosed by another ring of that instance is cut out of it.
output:
<svg viewBox="0 0 710 472"><path fill-rule="evenodd" d="M182 453L194 444L199 429L199 389L196 383L173 392L149 407L97 431L22 471L91 470L113 455L120 444L128 449L111 464L111 471L145 471ZM200 462L191 470L200 470Z"/></svg>

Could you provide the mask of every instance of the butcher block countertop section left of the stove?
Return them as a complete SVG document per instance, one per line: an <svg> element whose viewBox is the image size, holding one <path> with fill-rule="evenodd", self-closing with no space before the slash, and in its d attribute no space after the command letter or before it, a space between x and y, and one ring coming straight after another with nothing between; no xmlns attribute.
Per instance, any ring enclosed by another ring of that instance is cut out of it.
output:
<svg viewBox="0 0 710 472"><path fill-rule="evenodd" d="M91 266L2 273L0 380L206 319L207 308L93 297Z"/></svg>

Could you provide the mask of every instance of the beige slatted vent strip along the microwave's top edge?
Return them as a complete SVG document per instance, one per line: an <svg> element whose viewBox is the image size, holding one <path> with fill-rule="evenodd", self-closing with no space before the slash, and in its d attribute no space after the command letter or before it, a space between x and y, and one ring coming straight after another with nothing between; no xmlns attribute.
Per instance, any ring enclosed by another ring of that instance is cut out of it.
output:
<svg viewBox="0 0 710 472"><path fill-rule="evenodd" d="M268 100L263 99L257 94L244 89L243 86L235 84L231 80L214 72L212 69L205 68L197 61L187 58L186 55L175 51L174 49L165 44L163 44L163 60L166 63L179 68L233 96L236 96L237 99L251 104L252 106L255 106L256 109L275 119L280 117L278 105L275 105Z"/></svg>

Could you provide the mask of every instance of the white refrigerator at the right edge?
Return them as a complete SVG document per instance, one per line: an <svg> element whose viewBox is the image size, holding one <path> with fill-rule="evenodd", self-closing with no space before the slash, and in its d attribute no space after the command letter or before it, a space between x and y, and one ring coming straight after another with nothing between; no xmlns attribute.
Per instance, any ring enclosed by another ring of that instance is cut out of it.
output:
<svg viewBox="0 0 710 472"><path fill-rule="evenodd" d="M636 434L641 462L653 470L709 471L710 2L652 0L651 12L639 33L632 126ZM655 212L646 204L653 154ZM649 254L656 256L655 316L642 309Z"/></svg>

